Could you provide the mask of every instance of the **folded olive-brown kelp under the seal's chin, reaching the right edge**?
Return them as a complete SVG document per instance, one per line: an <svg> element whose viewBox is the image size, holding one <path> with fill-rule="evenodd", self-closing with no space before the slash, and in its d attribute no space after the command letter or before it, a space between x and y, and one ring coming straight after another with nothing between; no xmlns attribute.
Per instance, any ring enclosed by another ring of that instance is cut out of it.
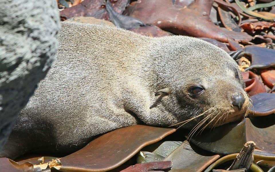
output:
<svg viewBox="0 0 275 172"><path fill-rule="evenodd" d="M204 131L191 138L191 142L213 153L232 154L241 150L247 141L254 141L256 148L275 153L274 115L255 117L253 122L245 118L240 123L229 123Z"/></svg>

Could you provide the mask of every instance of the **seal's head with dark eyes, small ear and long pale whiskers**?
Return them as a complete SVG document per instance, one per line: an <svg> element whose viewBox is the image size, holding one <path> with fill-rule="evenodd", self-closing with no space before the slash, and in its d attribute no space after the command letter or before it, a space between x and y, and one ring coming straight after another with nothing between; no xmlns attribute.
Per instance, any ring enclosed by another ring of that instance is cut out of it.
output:
<svg viewBox="0 0 275 172"><path fill-rule="evenodd" d="M175 123L193 118L184 128L213 127L244 118L249 98L235 60L196 38L172 36L162 43L166 51L157 54L173 59L158 67L162 88L156 96L163 95L160 103Z"/></svg>

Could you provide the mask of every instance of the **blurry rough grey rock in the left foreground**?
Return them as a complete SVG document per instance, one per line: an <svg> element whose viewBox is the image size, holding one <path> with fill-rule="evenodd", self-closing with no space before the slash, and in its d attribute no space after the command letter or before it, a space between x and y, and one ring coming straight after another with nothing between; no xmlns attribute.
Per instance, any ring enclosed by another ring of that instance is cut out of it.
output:
<svg viewBox="0 0 275 172"><path fill-rule="evenodd" d="M0 1L0 150L54 61L59 20L55 0Z"/></svg>

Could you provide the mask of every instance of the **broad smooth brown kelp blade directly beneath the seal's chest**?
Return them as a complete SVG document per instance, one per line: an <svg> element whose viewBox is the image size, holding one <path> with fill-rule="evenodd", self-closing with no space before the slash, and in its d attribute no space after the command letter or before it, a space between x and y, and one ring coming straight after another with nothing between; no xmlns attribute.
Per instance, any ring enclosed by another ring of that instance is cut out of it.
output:
<svg viewBox="0 0 275 172"><path fill-rule="evenodd" d="M60 171L108 171L125 163L144 146L158 142L173 132L175 129L143 125L119 128L60 158L62 165L58 168Z"/></svg>

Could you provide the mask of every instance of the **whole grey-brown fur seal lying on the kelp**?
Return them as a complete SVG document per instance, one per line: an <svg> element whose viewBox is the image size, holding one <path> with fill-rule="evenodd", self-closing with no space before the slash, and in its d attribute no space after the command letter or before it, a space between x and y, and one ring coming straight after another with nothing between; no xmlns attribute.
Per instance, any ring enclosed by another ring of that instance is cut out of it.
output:
<svg viewBox="0 0 275 172"><path fill-rule="evenodd" d="M1 157L71 153L99 134L135 124L167 127L198 117L183 127L202 119L219 126L246 112L237 63L203 40L67 22L58 40L56 60Z"/></svg>

